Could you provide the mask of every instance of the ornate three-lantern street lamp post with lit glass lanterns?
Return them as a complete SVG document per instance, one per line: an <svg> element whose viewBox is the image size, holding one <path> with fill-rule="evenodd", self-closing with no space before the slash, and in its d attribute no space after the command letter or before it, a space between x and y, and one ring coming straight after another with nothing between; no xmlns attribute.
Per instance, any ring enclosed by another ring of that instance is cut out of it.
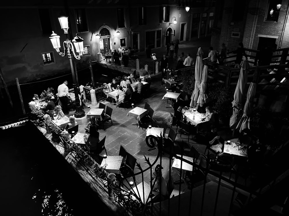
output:
<svg viewBox="0 0 289 216"><path fill-rule="evenodd" d="M81 118L85 115L84 110L80 106L80 100L78 97L78 89L77 89L77 82L76 82L76 77L75 77L75 72L74 72L74 67L73 67L73 62L72 62L72 54L74 58L80 59L83 53L83 39L79 36L76 35L76 37L73 38L71 43L71 40L68 39L68 16L61 16L58 18L59 23L61 28L64 30L64 34L66 35L66 41L63 42L63 48L64 52L60 52L59 48L60 46L60 36L55 34L54 31L52 31L52 35L50 38L51 43L53 48L58 52L60 56L65 56L67 54L70 62L70 67L71 67L71 74L72 74L72 80L73 80L73 88L74 88L74 94L75 94L75 103L76 103L76 111L75 111L75 118ZM74 47L76 49L76 52L79 53L79 55L76 55L74 52Z"/></svg>

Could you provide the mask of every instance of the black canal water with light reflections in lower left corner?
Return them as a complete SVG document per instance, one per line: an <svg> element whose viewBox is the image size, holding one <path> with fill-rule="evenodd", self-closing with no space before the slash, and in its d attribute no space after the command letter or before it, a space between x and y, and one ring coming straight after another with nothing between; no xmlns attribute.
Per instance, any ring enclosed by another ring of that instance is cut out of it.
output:
<svg viewBox="0 0 289 216"><path fill-rule="evenodd" d="M113 215L33 125L0 130L0 215Z"/></svg>

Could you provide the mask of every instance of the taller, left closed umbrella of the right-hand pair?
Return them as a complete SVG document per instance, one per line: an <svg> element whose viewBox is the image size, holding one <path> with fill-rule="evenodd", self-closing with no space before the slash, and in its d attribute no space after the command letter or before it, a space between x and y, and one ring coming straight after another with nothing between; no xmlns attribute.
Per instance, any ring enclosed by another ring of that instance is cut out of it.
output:
<svg viewBox="0 0 289 216"><path fill-rule="evenodd" d="M234 93L234 101L232 101L233 107L233 115L230 118L230 128L234 130L237 128L239 122L239 113L240 109L243 108L242 101L245 95L245 86L247 84L247 76L248 76L249 62L248 60L243 60L241 63L241 70L238 79L238 83Z"/></svg>

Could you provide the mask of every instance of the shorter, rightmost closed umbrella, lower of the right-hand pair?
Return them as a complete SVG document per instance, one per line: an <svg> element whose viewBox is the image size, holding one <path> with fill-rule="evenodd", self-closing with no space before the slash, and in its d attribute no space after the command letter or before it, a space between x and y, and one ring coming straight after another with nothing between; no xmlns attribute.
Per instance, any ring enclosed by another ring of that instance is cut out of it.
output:
<svg viewBox="0 0 289 216"><path fill-rule="evenodd" d="M245 128L250 129L250 115L252 113L252 105L253 105L253 100L255 97L256 93L256 87L257 84L251 82L247 94L247 100L244 106L244 114L242 118L240 119L239 124L237 125L237 128L240 128L240 132L244 130Z"/></svg>

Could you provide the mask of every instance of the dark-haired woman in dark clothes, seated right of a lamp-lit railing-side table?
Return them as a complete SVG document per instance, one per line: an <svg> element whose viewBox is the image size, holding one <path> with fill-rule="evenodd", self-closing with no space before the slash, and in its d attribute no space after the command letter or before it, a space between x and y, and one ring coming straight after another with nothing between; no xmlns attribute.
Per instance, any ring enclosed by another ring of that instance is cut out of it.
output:
<svg viewBox="0 0 289 216"><path fill-rule="evenodd" d="M99 132L95 126L90 126L89 134L84 134L85 148L89 151L89 154L98 152Z"/></svg>

